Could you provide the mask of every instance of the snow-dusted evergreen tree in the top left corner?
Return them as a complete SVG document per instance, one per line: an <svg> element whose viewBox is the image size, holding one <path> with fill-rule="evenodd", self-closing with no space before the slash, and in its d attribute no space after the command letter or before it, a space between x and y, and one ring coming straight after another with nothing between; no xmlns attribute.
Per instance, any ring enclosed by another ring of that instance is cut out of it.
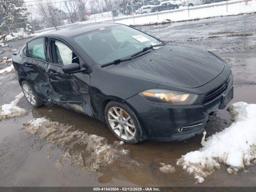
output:
<svg viewBox="0 0 256 192"><path fill-rule="evenodd" d="M26 22L28 15L24 0L0 0L0 26Z"/></svg>

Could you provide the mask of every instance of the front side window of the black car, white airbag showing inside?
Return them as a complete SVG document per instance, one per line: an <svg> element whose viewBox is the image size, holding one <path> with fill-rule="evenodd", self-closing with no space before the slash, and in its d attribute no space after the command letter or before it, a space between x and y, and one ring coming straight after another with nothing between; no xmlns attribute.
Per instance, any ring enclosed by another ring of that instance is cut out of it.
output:
<svg viewBox="0 0 256 192"><path fill-rule="evenodd" d="M54 41L56 58L58 60L58 64L68 65L70 63L78 63L79 59L76 54L63 42L55 40Z"/></svg>

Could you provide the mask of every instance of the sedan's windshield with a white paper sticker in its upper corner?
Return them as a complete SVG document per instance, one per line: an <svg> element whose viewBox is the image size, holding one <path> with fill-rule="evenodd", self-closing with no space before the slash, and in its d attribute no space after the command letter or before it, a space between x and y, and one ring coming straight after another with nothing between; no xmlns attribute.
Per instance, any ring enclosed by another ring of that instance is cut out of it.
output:
<svg viewBox="0 0 256 192"><path fill-rule="evenodd" d="M124 25L90 31L76 36L74 41L100 65L129 57L143 48L162 43L156 38Z"/></svg>

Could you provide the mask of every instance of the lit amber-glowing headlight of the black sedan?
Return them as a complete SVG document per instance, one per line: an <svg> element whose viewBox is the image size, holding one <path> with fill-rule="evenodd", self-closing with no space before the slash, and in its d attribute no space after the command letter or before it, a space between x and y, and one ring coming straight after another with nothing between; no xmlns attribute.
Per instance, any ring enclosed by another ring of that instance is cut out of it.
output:
<svg viewBox="0 0 256 192"><path fill-rule="evenodd" d="M157 102L170 105L191 105L198 95L184 93L179 91L171 91L165 89L149 89L139 93L144 99L150 102Z"/></svg>

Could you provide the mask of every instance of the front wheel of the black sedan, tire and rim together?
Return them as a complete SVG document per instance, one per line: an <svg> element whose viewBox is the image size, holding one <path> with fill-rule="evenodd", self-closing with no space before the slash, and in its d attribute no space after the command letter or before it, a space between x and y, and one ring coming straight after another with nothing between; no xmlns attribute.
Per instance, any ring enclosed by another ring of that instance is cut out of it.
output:
<svg viewBox="0 0 256 192"><path fill-rule="evenodd" d="M114 108L116 108L116 111L119 113L119 115L120 109L122 109L122 115L118 116ZM138 122L136 115L126 105L122 104L121 102L110 101L106 105L104 113L108 127L118 139L129 144L135 144L144 140L140 139L145 137L143 135L142 128L140 127L140 123ZM112 115L114 115L115 117ZM126 121L128 117L130 117L130 119ZM134 135L130 133L133 133Z"/></svg>

